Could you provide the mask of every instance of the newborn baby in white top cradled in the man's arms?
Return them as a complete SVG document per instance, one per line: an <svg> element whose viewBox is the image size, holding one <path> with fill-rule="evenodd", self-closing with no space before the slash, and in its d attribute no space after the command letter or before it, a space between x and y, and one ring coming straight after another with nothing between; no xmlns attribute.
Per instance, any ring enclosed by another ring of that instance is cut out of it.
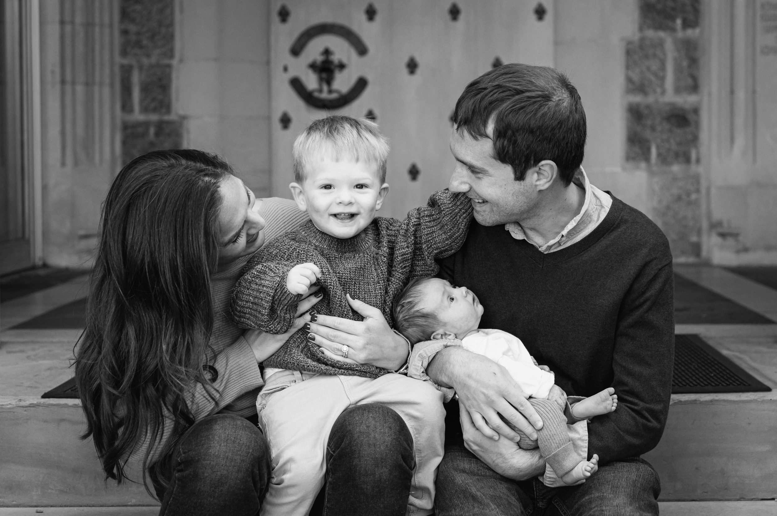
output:
<svg viewBox="0 0 777 516"><path fill-rule="evenodd" d="M611 387L587 398L566 397L554 385L552 372L540 369L521 340L500 330L479 329L483 306L466 287L454 287L439 278L414 279L402 290L394 303L395 328L412 344L434 339L458 339L470 352L485 355L503 365L529 403L542 418L537 441L521 435L518 445L524 449L539 447L545 462L556 476L573 485L585 480L598 469L598 456L580 460L574 452L566 424L609 414L618 404ZM549 399L550 398L550 399Z"/></svg>

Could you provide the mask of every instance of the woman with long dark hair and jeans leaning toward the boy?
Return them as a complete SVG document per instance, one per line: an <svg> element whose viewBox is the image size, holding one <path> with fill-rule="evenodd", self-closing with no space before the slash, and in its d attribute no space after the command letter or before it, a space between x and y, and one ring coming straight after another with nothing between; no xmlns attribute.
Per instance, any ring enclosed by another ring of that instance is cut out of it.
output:
<svg viewBox="0 0 777 516"><path fill-rule="evenodd" d="M87 325L75 374L106 476L141 464L160 514L256 514L270 481L256 428L259 364L318 301L299 303L287 334L235 327L228 302L242 266L305 215L256 199L221 159L155 151L117 175L103 205ZM265 229L265 220L267 228ZM319 294L320 296L320 294ZM361 362L398 369L407 349L374 347ZM404 514L413 442L401 417L347 410L329 437L325 514Z"/></svg>

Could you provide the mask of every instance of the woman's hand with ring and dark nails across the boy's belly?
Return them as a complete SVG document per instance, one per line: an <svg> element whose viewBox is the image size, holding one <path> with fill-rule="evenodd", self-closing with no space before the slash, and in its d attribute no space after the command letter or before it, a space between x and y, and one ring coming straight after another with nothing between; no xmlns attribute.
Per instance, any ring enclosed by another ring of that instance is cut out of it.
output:
<svg viewBox="0 0 777 516"><path fill-rule="evenodd" d="M347 296L350 307L361 313L364 320L350 320L342 317L305 315L310 321L310 334L315 344L329 358L343 362L375 365L395 371L407 362L409 349L407 341L395 334L383 313L358 300ZM347 345L348 358L343 358L343 345Z"/></svg>

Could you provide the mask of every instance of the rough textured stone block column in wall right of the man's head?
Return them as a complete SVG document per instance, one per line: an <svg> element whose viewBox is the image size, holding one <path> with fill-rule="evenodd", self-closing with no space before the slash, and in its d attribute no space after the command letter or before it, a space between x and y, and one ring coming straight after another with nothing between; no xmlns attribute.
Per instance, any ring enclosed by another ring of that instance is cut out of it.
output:
<svg viewBox="0 0 777 516"><path fill-rule="evenodd" d="M650 177L674 257L701 256L699 0L639 0L625 43L625 162Z"/></svg>

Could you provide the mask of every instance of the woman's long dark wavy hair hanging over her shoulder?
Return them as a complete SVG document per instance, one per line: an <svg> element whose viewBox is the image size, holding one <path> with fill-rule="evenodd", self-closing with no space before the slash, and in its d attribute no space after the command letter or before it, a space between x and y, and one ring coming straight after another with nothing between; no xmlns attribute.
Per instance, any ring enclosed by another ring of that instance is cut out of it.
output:
<svg viewBox="0 0 777 516"><path fill-rule="evenodd" d="M144 483L148 470L166 487L157 459L193 424L193 387L214 397L202 366L211 351L218 187L229 174L206 152L149 152L122 168L103 204L75 379L82 438L92 437L106 478L117 483L127 478L127 457L146 444ZM172 438L155 449L166 418Z"/></svg>

